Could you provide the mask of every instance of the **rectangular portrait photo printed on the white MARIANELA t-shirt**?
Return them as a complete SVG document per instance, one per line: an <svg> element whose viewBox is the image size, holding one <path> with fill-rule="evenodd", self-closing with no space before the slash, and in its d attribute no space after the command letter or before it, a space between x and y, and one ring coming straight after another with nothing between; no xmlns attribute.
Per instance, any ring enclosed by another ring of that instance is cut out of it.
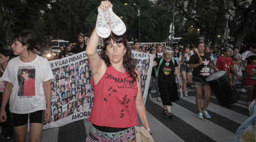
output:
<svg viewBox="0 0 256 142"><path fill-rule="evenodd" d="M19 91L18 96L35 96L35 74L34 66L20 66L18 69Z"/></svg>

